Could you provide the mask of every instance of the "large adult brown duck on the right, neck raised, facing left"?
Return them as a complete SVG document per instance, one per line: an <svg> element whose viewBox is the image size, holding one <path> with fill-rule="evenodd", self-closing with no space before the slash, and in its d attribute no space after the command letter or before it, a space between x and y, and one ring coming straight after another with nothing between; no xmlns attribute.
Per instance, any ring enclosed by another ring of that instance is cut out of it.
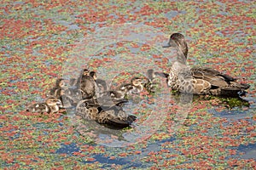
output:
<svg viewBox="0 0 256 170"><path fill-rule="evenodd" d="M163 48L177 48L177 61L172 64L167 82L168 85L179 92L189 94L212 94L238 97L245 94L249 84L236 82L230 77L212 68L186 65L189 48L185 38L180 33L173 33L169 42Z"/></svg>

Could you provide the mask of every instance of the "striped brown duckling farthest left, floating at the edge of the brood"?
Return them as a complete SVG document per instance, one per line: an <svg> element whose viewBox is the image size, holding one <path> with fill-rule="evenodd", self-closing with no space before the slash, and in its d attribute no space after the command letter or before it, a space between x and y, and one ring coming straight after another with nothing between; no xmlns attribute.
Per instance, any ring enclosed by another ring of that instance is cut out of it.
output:
<svg viewBox="0 0 256 170"><path fill-rule="evenodd" d="M34 112L34 113L56 113L62 107L61 100L56 99L55 97L49 97L45 100L44 103L37 103L28 105L26 111Z"/></svg>

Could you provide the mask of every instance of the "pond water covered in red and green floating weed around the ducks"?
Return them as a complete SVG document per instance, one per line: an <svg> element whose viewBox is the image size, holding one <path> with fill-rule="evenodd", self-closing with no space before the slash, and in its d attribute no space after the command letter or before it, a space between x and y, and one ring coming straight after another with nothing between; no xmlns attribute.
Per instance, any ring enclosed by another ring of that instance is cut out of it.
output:
<svg viewBox="0 0 256 170"><path fill-rule="evenodd" d="M197 169L256 166L253 1L0 3L1 169ZM111 88L148 69L168 72L173 32L189 42L188 65L251 87L242 99L177 94L159 77L154 94L129 96L131 128L76 116L26 112L60 77L84 67Z"/></svg>

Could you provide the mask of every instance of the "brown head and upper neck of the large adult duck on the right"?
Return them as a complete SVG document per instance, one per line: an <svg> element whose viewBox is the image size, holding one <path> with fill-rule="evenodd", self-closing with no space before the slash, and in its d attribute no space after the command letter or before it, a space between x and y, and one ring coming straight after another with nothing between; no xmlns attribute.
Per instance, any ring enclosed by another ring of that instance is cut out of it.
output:
<svg viewBox="0 0 256 170"><path fill-rule="evenodd" d="M169 42L163 46L163 48L178 48L187 59L189 48L185 40L185 37L181 33L173 33L169 39Z"/></svg>

